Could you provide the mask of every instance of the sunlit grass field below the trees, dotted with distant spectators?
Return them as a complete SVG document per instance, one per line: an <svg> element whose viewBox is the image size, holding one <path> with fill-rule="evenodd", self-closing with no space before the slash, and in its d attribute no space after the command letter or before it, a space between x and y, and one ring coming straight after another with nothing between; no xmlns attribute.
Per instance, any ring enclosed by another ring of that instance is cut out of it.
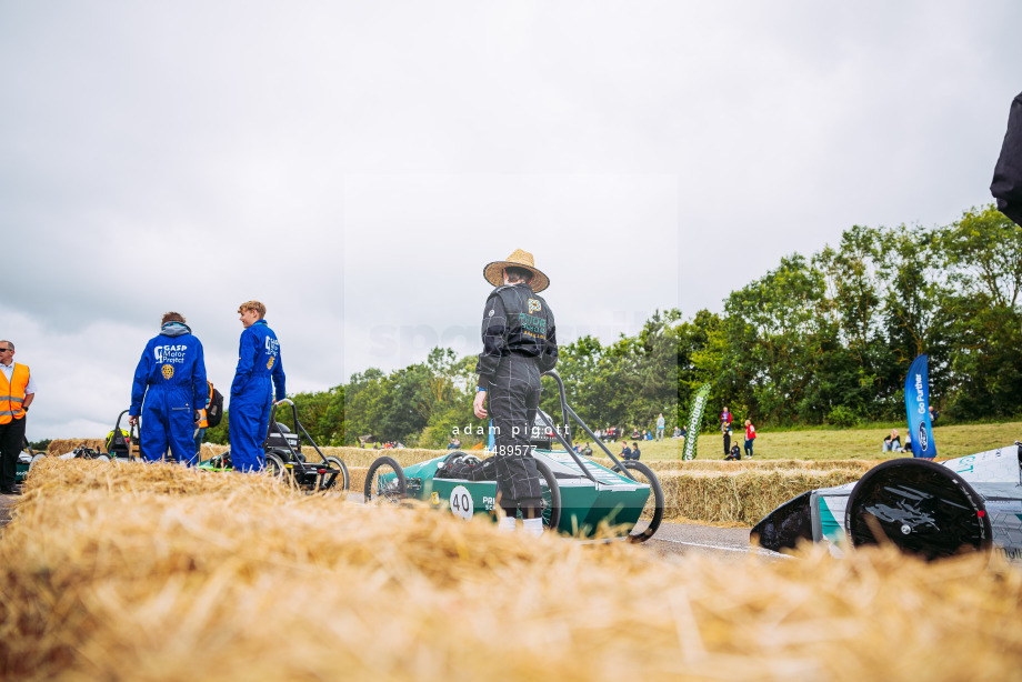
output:
<svg viewBox="0 0 1022 682"><path fill-rule="evenodd" d="M781 431L771 433L769 429L758 430L754 459L778 460L886 460L903 454L881 452L881 443L890 429L820 429L808 431ZM905 429L899 429L902 442ZM1010 445L1022 440L1022 422L1000 424L965 424L935 427L933 439L936 441L938 459L963 457ZM731 442L741 445L745 440L744 430L732 433ZM628 441L631 445L632 441ZM642 441L639 443L644 460L681 459L684 441L664 439L663 442ZM592 447L592 443L590 443ZM615 455L621 452L621 441L607 443ZM593 454L600 452L593 447ZM698 459L720 460L724 457L723 439L719 433L699 437Z"/></svg>

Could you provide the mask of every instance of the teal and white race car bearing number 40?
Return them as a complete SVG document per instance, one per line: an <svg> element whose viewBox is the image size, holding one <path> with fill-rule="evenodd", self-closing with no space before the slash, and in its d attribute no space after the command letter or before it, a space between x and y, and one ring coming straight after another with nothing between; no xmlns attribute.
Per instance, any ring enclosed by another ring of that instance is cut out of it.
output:
<svg viewBox="0 0 1022 682"><path fill-rule="evenodd" d="M653 536L663 521L663 489L657 474L637 460L620 461L587 427L564 399L564 384L555 372L547 372L560 392L563 424L537 411L532 442L533 458L543 489L543 525L574 536L591 536L601 525L617 529L631 542ZM611 468L574 452L571 418L611 460ZM563 451L548 443L557 440ZM497 518L495 460L472 453L452 452L411 467L391 457L377 459L365 474L367 502L400 503L405 499L429 502L465 520L475 514Z"/></svg>

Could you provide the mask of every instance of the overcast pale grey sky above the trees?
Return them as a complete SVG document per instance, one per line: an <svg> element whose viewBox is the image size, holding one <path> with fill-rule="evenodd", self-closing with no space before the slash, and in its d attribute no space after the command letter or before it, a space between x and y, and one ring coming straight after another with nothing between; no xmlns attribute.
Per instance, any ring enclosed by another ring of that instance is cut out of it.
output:
<svg viewBox="0 0 1022 682"><path fill-rule="evenodd" d="M1016 0L0 0L29 439L106 434L168 310L226 389L262 300L313 391L477 352L515 249L562 341L609 341L852 224L949 223L990 201L1019 26Z"/></svg>

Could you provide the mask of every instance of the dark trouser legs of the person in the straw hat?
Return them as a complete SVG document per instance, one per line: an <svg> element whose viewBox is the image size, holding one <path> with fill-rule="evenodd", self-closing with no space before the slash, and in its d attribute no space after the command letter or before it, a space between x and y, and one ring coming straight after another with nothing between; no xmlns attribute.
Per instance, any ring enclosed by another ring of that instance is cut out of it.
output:
<svg viewBox="0 0 1022 682"><path fill-rule="evenodd" d="M540 404L540 371L535 360L507 355L490 381L490 415L497 429L497 492L500 505L511 510L539 507L543 498L540 474L529 437Z"/></svg>

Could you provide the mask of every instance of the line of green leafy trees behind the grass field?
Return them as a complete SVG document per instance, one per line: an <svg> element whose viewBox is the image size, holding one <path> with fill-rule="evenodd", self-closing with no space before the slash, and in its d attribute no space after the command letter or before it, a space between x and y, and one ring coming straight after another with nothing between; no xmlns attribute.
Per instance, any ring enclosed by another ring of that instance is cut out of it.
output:
<svg viewBox="0 0 1022 682"><path fill-rule="evenodd" d="M723 404L757 424L848 427L904 419L905 372L928 353L931 403L945 418L1003 419L1022 413L1020 291L1022 231L992 205L936 228L853 225L835 245L782 258L720 313L658 311L635 335L564 344L558 372L593 429L651 429L661 412L680 425L708 381L705 428ZM442 447L457 429L469 445L485 429L472 414L474 367L474 355L437 348L292 399L320 444ZM560 417L549 380L541 408ZM228 419L210 441L227 442Z"/></svg>

